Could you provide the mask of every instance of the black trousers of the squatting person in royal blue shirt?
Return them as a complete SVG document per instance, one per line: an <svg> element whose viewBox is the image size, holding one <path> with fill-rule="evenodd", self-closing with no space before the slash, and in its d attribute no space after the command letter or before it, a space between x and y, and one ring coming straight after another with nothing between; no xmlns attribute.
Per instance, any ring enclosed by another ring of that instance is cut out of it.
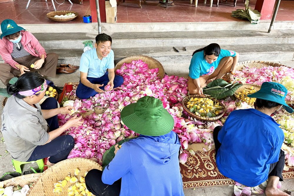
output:
<svg viewBox="0 0 294 196"><path fill-rule="evenodd" d="M221 146L221 143L218 141L218 132L220 131L222 127L223 126L217 126L216 128L214 128L214 131L213 131L213 139L214 139L214 145L216 147L216 155L217 155L218 149ZM270 164L268 176L278 176L280 177L280 181L283 181L282 173L283 173L284 165L285 165L285 153L284 151L280 150L279 160L275 163Z"/></svg>

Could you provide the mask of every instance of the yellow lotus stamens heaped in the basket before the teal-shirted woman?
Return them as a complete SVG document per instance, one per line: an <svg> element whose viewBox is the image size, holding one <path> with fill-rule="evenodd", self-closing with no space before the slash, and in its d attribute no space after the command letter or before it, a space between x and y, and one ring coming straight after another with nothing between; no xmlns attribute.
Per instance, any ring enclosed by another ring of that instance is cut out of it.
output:
<svg viewBox="0 0 294 196"><path fill-rule="evenodd" d="M187 108L197 116L216 117L223 112L223 106L209 98L191 98Z"/></svg>

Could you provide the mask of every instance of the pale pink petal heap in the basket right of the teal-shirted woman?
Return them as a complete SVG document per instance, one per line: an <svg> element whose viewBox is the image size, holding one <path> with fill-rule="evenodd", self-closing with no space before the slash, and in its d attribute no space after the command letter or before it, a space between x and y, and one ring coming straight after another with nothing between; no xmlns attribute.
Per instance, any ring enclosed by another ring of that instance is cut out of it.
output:
<svg viewBox="0 0 294 196"><path fill-rule="evenodd" d="M234 77L243 84L262 85L263 82L280 82L283 77L294 78L294 70L289 67L261 67L243 68L242 71L235 71Z"/></svg>

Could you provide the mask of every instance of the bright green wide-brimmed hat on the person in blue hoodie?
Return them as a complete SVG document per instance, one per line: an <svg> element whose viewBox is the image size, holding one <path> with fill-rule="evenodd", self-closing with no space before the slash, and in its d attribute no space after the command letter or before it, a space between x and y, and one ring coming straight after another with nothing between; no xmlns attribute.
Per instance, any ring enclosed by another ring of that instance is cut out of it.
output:
<svg viewBox="0 0 294 196"><path fill-rule="evenodd" d="M145 96L124 107L121 120L132 131L145 136L162 136L173 129L174 120L160 99Z"/></svg>

